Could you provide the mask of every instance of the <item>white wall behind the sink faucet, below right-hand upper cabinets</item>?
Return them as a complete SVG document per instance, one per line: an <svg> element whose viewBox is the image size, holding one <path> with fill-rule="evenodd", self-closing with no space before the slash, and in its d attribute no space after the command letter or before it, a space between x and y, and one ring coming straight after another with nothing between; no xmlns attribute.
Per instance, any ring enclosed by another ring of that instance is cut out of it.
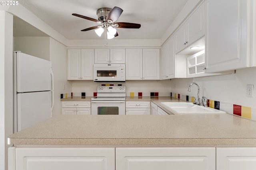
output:
<svg viewBox="0 0 256 170"><path fill-rule="evenodd" d="M246 107L255 107L256 104L256 68L236 70L235 74L209 76L201 78L176 78L171 80L171 90L188 96L196 96L197 88L193 85L191 92L188 86L192 82L200 87L200 98L206 96L210 100L237 104ZM246 97L246 84L254 84L254 97ZM254 113L256 114L256 113Z"/></svg>

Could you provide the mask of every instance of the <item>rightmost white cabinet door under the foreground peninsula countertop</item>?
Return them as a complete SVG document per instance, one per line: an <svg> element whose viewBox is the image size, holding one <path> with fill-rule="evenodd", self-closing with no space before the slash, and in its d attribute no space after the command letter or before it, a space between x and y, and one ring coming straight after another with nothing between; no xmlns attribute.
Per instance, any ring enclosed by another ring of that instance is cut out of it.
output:
<svg viewBox="0 0 256 170"><path fill-rule="evenodd" d="M216 170L255 170L256 147L217 147Z"/></svg>

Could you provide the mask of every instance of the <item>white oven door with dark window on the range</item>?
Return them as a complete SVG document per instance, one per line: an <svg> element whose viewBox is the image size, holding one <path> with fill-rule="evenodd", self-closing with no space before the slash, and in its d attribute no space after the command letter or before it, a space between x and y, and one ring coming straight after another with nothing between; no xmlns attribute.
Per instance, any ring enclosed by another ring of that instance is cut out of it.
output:
<svg viewBox="0 0 256 170"><path fill-rule="evenodd" d="M92 115L125 115L125 100L91 101Z"/></svg>

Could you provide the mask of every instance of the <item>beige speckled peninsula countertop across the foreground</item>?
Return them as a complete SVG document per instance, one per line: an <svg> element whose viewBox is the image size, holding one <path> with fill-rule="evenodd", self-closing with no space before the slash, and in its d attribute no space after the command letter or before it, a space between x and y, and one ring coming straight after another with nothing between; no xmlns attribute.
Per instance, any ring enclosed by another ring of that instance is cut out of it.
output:
<svg viewBox="0 0 256 170"><path fill-rule="evenodd" d="M256 146L256 121L230 114L58 115L8 137L11 145Z"/></svg>

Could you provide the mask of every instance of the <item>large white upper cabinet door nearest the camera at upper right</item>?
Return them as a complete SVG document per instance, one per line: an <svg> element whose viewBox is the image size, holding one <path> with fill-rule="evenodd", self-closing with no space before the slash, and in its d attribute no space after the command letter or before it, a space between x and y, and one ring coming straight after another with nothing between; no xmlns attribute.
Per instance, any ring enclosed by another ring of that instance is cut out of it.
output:
<svg viewBox="0 0 256 170"><path fill-rule="evenodd" d="M205 72L250 64L250 0L206 0Z"/></svg>

